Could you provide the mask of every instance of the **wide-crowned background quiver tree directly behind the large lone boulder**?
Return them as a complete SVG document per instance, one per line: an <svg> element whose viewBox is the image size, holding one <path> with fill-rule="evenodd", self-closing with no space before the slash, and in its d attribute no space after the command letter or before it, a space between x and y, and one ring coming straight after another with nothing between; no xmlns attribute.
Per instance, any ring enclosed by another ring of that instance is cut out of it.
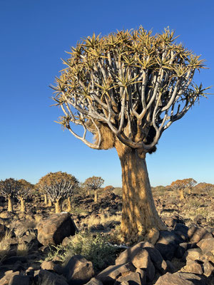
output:
<svg viewBox="0 0 214 285"><path fill-rule="evenodd" d="M46 192L49 199L54 202L55 212L60 213L63 199L69 198L72 195L73 190L78 187L78 180L66 172L49 172L44 177L41 177L38 186ZM70 199L69 201L71 203ZM70 211L71 204L68 204L68 212Z"/></svg>

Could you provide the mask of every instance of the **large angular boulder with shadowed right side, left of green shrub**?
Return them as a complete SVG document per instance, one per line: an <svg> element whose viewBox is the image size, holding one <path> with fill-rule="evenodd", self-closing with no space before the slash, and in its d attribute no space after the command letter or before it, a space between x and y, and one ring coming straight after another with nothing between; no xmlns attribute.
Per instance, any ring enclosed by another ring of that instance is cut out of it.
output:
<svg viewBox="0 0 214 285"><path fill-rule="evenodd" d="M61 244L65 237L73 236L76 233L76 226L67 212L52 214L42 219L37 225L37 239L43 245Z"/></svg>

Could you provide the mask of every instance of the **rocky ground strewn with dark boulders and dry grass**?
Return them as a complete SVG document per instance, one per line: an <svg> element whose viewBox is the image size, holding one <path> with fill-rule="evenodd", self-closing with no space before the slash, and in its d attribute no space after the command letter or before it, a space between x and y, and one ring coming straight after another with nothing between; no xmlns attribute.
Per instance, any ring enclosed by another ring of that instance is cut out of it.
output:
<svg viewBox="0 0 214 285"><path fill-rule="evenodd" d="M156 244L117 248L102 269L78 252L65 262L61 257L77 230L93 237L108 236L112 244L119 242L121 192L116 194L100 192L98 203L93 203L92 195L76 195L71 214L54 214L54 207L47 207L40 196L26 203L25 213L17 203L14 212L7 212L2 200L0 285L214 284L214 198L210 193L193 192L180 201L178 193L154 190L158 213L168 225ZM87 238L83 241L87 243Z"/></svg>

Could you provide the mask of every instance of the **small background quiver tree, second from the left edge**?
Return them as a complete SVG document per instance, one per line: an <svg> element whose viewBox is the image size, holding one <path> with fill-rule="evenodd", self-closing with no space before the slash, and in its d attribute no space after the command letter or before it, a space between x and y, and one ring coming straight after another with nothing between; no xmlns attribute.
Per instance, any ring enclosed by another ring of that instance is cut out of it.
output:
<svg viewBox="0 0 214 285"><path fill-rule="evenodd" d="M21 203L21 212L25 212L26 210L26 205L25 201L28 197L31 196L31 191L34 188L34 185L32 185L30 182L27 182L24 179L18 180L20 183L20 188L19 190L16 191L16 197L19 199Z"/></svg>

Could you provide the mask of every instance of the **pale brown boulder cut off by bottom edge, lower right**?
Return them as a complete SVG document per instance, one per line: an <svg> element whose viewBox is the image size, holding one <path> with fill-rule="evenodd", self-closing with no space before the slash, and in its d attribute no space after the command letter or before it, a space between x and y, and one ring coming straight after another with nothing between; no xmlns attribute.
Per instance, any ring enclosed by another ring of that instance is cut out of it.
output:
<svg viewBox="0 0 214 285"><path fill-rule="evenodd" d="M201 276L192 273L168 272L159 277L155 285L205 285L205 281Z"/></svg>

